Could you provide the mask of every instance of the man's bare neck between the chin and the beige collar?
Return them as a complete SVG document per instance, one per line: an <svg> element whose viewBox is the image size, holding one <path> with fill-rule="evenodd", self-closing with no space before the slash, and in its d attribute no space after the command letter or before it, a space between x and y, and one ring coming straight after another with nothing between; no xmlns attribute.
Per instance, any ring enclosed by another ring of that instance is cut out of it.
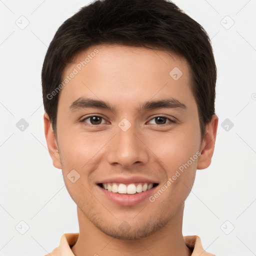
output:
<svg viewBox="0 0 256 256"><path fill-rule="evenodd" d="M114 256L190 256L191 251L185 245L182 236L182 218L184 204L177 210L167 224L149 236L139 239L116 239L95 227L77 207L79 236L71 247L75 256L104 255ZM86 254L85 254L86 253Z"/></svg>

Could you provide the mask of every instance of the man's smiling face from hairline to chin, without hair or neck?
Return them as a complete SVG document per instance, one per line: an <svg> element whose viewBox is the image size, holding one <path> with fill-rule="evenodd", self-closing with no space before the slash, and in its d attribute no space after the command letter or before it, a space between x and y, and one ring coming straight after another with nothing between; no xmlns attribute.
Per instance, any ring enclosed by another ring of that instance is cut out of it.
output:
<svg viewBox="0 0 256 256"><path fill-rule="evenodd" d="M183 205L203 157L188 63L123 45L95 45L74 62L53 164L85 219L113 237L145 237Z"/></svg>

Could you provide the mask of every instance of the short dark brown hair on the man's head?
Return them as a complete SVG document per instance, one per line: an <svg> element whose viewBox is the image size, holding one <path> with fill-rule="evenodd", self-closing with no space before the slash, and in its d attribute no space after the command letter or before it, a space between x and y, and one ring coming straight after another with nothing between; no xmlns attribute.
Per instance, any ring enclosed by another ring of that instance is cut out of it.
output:
<svg viewBox="0 0 256 256"><path fill-rule="evenodd" d="M185 57L204 136L215 112L216 66L210 39L200 24L167 0L96 0L62 23L41 72L44 110L54 131L58 93L51 92L59 88L65 67L79 52L103 43L152 46Z"/></svg>

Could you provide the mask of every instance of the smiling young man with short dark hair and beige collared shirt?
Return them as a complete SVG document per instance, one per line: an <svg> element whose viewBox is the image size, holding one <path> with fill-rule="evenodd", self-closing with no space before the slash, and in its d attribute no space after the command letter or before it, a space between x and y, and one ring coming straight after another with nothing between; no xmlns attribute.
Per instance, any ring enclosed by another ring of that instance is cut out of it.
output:
<svg viewBox="0 0 256 256"><path fill-rule="evenodd" d="M171 2L94 1L59 27L44 129L79 233L48 255L213 255L182 217L214 150L215 82L206 32Z"/></svg>

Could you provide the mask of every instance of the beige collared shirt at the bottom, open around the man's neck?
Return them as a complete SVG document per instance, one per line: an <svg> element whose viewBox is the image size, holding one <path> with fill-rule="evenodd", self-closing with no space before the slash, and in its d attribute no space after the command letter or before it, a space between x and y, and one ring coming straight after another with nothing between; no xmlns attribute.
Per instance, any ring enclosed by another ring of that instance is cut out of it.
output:
<svg viewBox="0 0 256 256"><path fill-rule="evenodd" d="M70 246L76 243L78 235L79 233L64 233L60 238L59 246L45 256L74 256ZM216 256L203 249L199 236L185 235L183 237L186 245L193 251L191 256Z"/></svg>

